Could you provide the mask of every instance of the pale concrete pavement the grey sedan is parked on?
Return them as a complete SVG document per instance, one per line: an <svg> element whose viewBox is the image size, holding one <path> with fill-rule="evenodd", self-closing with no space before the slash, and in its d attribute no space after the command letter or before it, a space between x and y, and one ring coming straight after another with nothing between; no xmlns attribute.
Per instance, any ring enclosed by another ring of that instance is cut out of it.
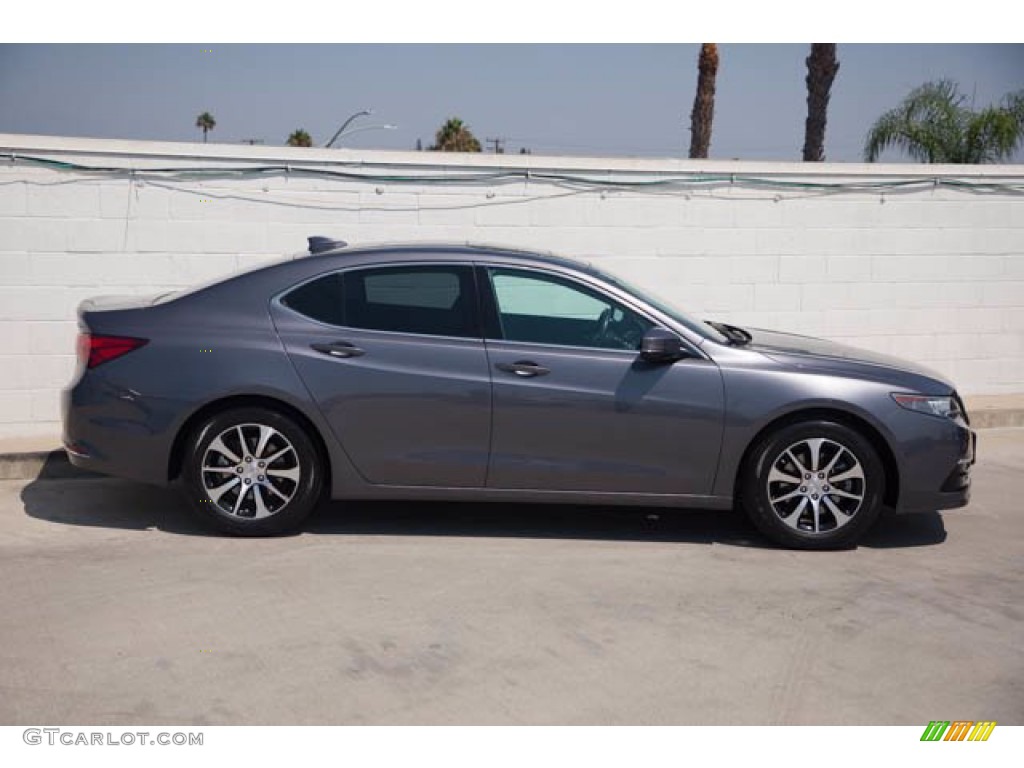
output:
<svg viewBox="0 0 1024 768"><path fill-rule="evenodd" d="M1024 724L1024 429L863 546L738 516L332 504L208 536L173 492L0 482L0 723Z"/></svg>

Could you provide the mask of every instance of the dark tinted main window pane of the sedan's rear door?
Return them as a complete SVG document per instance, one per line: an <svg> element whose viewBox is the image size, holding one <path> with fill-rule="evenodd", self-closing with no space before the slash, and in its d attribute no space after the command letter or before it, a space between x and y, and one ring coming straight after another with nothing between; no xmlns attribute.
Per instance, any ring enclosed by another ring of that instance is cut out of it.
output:
<svg viewBox="0 0 1024 768"><path fill-rule="evenodd" d="M473 272L397 266L345 273L345 325L431 336L479 336Z"/></svg>

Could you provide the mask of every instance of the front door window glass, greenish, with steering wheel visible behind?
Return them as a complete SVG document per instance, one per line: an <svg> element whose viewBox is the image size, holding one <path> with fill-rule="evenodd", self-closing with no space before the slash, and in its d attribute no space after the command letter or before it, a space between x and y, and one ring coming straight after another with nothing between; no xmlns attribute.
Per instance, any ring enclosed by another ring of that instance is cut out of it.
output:
<svg viewBox="0 0 1024 768"><path fill-rule="evenodd" d="M639 349L653 324L571 281L489 269L503 339L605 349Z"/></svg>

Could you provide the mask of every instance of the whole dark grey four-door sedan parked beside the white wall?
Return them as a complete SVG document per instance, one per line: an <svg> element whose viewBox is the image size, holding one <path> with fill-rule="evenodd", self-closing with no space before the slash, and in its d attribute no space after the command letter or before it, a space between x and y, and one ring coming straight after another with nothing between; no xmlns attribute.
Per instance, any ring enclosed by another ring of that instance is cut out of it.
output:
<svg viewBox="0 0 1024 768"><path fill-rule="evenodd" d="M594 266L472 245L309 253L79 307L76 466L166 485L242 536L324 499L730 509L857 542L968 503L953 385L805 336L700 322Z"/></svg>

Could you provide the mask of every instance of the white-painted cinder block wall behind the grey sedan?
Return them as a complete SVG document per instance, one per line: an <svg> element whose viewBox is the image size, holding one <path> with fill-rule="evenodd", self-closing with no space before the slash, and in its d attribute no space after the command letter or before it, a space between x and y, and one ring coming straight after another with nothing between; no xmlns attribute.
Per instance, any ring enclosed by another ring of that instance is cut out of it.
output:
<svg viewBox="0 0 1024 768"><path fill-rule="evenodd" d="M70 170L36 159L123 170ZM184 179L146 172L265 166L281 170ZM375 178L309 177L302 169ZM506 176L467 178L498 173ZM719 182L623 185L697 173ZM894 180L914 184L871 186ZM956 180L990 186L949 185ZM813 186L820 183L843 187L826 194ZM58 432L58 392L74 370L82 299L207 281L302 250L309 234L555 251L700 316L896 353L947 374L967 394L1021 392L1022 190L1024 166L440 155L0 134L0 436Z"/></svg>

